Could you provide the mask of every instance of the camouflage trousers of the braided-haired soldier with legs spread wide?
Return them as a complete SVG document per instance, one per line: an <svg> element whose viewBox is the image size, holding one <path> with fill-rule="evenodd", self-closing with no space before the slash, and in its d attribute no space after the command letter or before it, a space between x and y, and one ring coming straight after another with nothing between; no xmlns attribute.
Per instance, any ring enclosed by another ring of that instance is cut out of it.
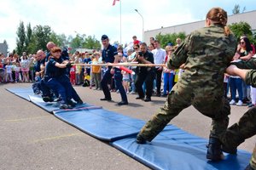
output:
<svg viewBox="0 0 256 170"><path fill-rule="evenodd" d="M172 118L190 105L212 118L211 137L218 138L228 127L230 104L224 99L222 89L212 91L200 86L184 88L177 82L168 94L165 105L144 125L139 134L148 141L153 140Z"/></svg>

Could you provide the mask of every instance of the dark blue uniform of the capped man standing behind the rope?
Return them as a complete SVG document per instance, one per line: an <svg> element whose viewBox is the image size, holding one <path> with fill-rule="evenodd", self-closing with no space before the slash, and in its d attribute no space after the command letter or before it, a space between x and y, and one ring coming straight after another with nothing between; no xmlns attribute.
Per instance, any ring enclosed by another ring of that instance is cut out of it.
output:
<svg viewBox="0 0 256 170"><path fill-rule="evenodd" d="M117 48L113 47L112 45L108 45L108 48L104 48L102 51L102 61L105 63L113 63L114 61L114 52L117 51ZM110 73L111 66L108 67L108 70L105 72L104 76L102 77L102 91L105 95L105 99L111 100L111 94L108 89L108 81L111 79L112 74Z"/></svg>

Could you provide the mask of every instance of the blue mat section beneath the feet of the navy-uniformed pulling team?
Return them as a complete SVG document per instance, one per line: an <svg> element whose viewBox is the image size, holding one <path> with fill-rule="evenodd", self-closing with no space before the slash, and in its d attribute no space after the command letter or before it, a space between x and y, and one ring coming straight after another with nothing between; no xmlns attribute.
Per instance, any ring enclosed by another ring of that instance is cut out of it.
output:
<svg viewBox="0 0 256 170"><path fill-rule="evenodd" d="M53 111L63 111L60 109L60 103L58 102L44 102L42 97L37 95L29 95L29 98L34 105L38 105L38 107L41 107L42 109L44 109L44 111L48 111L49 113L53 113ZM77 110L83 110L84 108L86 110L88 107L102 108L100 106L83 104L83 105L78 105L73 109L66 109L64 111L77 111Z"/></svg>

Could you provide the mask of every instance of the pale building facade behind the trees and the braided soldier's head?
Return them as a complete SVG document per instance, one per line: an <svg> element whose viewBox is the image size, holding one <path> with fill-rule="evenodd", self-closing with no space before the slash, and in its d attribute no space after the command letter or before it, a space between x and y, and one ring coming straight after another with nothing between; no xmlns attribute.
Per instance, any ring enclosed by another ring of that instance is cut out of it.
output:
<svg viewBox="0 0 256 170"><path fill-rule="evenodd" d="M256 22L255 19L253 19L256 16L256 10L246 12L246 13L241 13L241 14L233 14L228 17L228 25L232 23L238 23L238 22L247 22L251 28L252 31L256 31ZM185 32L186 35L188 35L191 31L195 31L203 26L205 26L205 20L200 20L200 21L195 21L195 22L190 22L182 25L177 25L177 26L168 26L165 28L160 28L160 29L155 29L151 31L145 31L144 36L145 36L145 42L149 43L149 38L150 37L155 37L159 33L162 35L165 34L172 34L172 33L178 33L178 32Z"/></svg>

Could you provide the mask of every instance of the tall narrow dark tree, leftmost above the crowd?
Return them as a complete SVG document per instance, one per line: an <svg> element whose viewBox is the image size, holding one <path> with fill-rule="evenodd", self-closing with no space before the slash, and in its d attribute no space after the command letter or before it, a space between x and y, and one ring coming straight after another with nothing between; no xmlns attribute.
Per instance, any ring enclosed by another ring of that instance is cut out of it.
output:
<svg viewBox="0 0 256 170"><path fill-rule="evenodd" d="M16 38L17 54L21 54L23 51L25 51L26 49L25 41L26 41L25 27L24 27L23 21L20 21L20 26L18 27L17 38Z"/></svg>

